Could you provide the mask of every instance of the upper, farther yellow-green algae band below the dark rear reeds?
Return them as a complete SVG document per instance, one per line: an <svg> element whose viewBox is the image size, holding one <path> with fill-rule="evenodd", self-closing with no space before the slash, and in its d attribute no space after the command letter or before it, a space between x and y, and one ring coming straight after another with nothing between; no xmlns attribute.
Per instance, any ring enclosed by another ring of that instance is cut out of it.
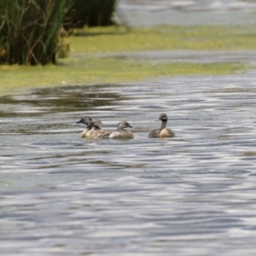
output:
<svg viewBox="0 0 256 256"><path fill-rule="evenodd" d="M87 38L84 40L84 38ZM124 52L142 50L247 50L256 49L254 26L154 26L90 28L68 38L73 52Z"/></svg>

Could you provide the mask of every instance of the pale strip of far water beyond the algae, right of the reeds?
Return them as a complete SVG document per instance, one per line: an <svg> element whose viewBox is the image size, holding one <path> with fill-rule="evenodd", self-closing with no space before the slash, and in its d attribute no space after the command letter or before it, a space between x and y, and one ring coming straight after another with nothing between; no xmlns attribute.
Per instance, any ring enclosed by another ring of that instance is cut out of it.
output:
<svg viewBox="0 0 256 256"><path fill-rule="evenodd" d="M255 25L254 0L120 0L118 22L131 26Z"/></svg>

